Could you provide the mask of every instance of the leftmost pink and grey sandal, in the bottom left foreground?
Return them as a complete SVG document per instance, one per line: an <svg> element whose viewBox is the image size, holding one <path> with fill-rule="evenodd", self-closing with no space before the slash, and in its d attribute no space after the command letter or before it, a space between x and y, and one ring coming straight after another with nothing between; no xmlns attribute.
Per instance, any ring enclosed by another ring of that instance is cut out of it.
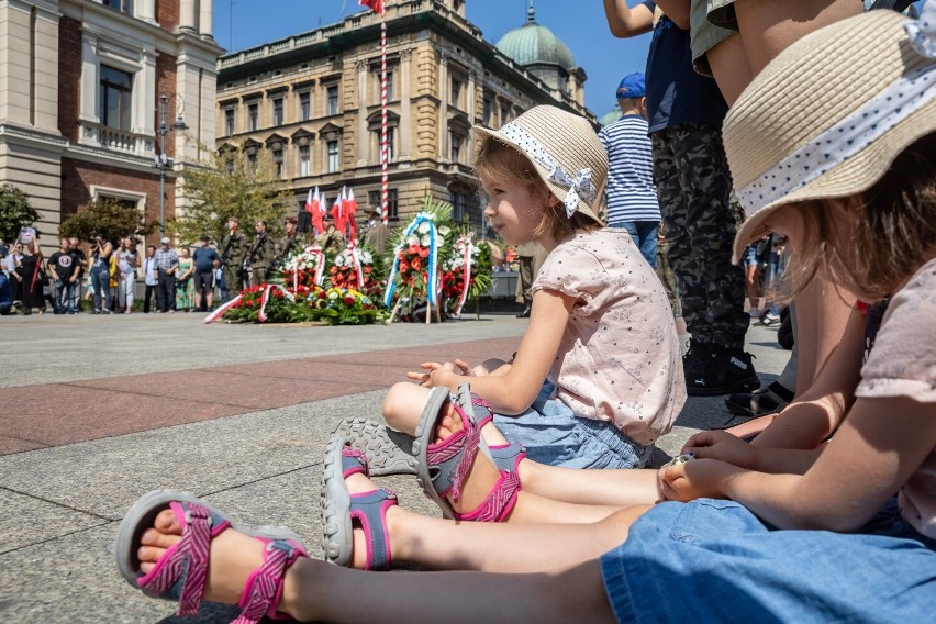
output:
<svg viewBox="0 0 936 624"><path fill-rule="evenodd" d="M182 526L182 538L170 546L149 573L140 570L137 550L143 533L153 526L163 510L170 509ZM196 615L208 579L211 539L226 528L255 537L266 544L263 564L247 578L238 606L237 624L255 624L263 617L290 620L276 610L282 593L286 570L300 557L308 557L299 537L282 527L253 532L234 525L204 501L188 492L155 490L140 498L127 510L116 536L116 564L124 579L146 595L178 600L177 615Z"/></svg>

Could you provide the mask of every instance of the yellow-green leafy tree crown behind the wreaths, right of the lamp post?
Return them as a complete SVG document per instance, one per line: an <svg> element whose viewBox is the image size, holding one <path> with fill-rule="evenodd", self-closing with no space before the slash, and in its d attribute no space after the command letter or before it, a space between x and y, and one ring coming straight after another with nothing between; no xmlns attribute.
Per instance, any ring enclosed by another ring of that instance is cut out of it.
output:
<svg viewBox="0 0 936 624"><path fill-rule="evenodd" d="M242 152L215 154L207 167L186 172L182 193L189 205L168 226L182 244L194 244L205 234L221 241L229 216L238 218L248 235L258 220L267 222L267 232L279 235L283 218L296 203L265 149L255 163Z"/></svg>

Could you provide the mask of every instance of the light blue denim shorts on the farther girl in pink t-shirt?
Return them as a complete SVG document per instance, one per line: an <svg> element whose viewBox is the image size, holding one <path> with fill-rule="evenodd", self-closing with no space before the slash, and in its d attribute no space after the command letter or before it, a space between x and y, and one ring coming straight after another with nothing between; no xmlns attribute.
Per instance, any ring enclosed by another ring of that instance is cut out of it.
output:
<svg viewBox="0 0 936 624"><path fill-rule="evenodd" d="M554 392L547 381L522 414L494 414L494 426L524 445L530 459L564 468L640 468L649 460L653 445L640 446L613 423L576 416Z"/></svg>

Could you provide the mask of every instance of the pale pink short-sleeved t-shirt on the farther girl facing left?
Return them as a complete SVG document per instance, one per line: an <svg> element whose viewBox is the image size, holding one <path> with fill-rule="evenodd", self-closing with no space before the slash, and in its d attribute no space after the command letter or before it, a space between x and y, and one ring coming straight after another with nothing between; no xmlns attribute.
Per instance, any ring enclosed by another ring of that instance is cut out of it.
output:
<svg viewBox="0 0 936 624"><path fill-rule="evenodd" d="M679 336L657 274L622 229L576 234L546 257L532 291L577 301L550 370L576 415L611 421L642 445L686 403Z"/></svg>

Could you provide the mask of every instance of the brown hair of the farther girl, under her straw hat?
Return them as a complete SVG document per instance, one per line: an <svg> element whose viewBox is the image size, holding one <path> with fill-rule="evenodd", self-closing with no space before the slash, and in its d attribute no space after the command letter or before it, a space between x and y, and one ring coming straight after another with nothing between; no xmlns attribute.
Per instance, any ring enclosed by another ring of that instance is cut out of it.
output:
<svg viewBox="0 0 936 624"><path fill-rule="evenodd" d="M506 143L487 136L478 148L475 172L490 182L513 182L524 185L533 194L536 205L542 207L543 215L533 233L534 238L549 234L555 241L564 241L576 230L598 230L601 224L591 218L575 212L566 215L566 207L546 186L530 159Z"/></svg>

